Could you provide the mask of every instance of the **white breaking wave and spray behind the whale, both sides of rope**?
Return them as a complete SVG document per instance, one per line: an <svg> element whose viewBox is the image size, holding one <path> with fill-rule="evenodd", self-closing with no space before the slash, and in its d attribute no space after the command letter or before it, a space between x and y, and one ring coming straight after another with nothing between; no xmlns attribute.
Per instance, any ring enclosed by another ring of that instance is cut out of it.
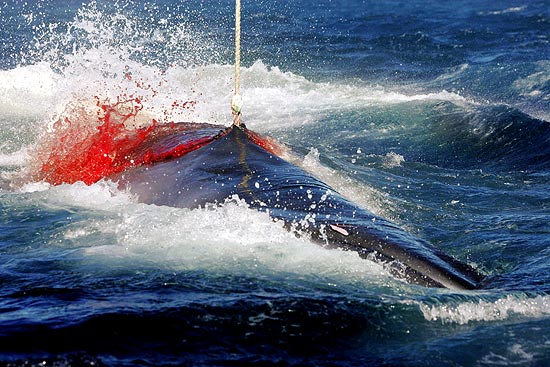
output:
<svg viewBox="0 0 550 367"><path fill-rule="evenodd" d="M39 135L69 105L86 105L96 97L137 97L143 111L159 121L228 124L233 66L219 62L219 55L230 46L215 44L208 28L198 30L186 12L163 15L144 23L131 6L110 8L92 1L65 23L47 27L37 21L26 64L0 71L1 122L16 125L31 119ZM242 85L245 123L269 131L370 106L472 103L444 89L404 92L358 80L314 82L261 60L243 68ZM190 101L192 109L178 108Z"/></svg>

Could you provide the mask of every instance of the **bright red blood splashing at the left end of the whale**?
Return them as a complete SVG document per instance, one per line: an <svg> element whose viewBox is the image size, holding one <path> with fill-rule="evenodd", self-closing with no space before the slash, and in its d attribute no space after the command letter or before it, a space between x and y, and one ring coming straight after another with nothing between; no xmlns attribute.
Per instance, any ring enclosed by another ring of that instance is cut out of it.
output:
<svg viewBox="0 0 550 367"><path fill-rule="evenodd" d="M138 98L110 104L95 98L95 107L65 113L38 145L33 179L53 185L82 181L88 185L128 167L151 164L198 149L213 136L198 136L168 150L148 149L149 141L181 130L178 124L151 119L136 125L142 109ZM185 104L183 104L185 107Z"/></svg>

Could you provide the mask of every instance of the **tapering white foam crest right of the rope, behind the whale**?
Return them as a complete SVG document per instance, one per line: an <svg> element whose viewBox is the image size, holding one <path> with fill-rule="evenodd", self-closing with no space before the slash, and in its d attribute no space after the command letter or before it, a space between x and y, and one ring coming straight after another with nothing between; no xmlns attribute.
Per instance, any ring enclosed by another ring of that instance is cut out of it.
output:
<svg viewBox="0 0 550 367"><path fill-rule="evenodd" d="M312 82L257 61L242 71L244 112L249 126L286 128L317 121L328 114L370 106L445 100L465 103L447 92L407 94L354 82Z"/></svg>

